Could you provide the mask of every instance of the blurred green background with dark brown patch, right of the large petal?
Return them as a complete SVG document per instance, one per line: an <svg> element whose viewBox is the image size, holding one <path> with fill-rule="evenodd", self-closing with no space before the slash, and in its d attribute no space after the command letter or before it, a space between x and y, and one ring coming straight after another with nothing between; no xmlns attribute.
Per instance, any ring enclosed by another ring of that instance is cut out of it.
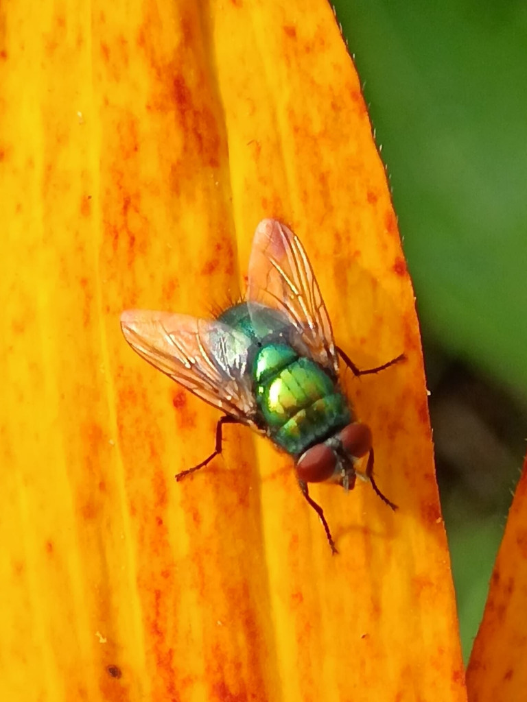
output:
<svg viewBox="0 0 527 702"><path fill-rule="evenodd" d="M464 656L527 437L527 3L334 2L417 295Z"/></svg>

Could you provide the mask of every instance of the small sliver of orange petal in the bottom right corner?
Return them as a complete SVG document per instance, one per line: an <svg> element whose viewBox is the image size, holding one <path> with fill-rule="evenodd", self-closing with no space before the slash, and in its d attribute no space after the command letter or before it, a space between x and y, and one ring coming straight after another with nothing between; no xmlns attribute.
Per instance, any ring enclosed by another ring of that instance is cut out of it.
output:
<svg viewBox="0 0 527 702"><path fill-rule="evenodd" d="M516 702L525 697L527 631L527 459L497 554L483 621L467 670L469 699Z"/></svg>

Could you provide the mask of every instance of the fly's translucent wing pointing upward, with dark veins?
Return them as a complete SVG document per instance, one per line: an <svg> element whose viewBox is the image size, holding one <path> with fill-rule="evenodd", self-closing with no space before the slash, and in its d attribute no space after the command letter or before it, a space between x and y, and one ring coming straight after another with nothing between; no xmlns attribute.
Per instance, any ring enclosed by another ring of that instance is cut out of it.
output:
<svg viewBox="0 0 527 702"><path fill-rule="evenodd" d="M277 220L262 220L254 233L248 277L247 301L285 313L313 360L337 376L330 317L296 234Z"/></svg>

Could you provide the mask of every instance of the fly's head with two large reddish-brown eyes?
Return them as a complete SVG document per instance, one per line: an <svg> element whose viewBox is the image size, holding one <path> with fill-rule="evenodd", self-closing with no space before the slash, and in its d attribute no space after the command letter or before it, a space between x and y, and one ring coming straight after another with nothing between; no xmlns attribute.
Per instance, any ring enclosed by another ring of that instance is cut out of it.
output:
<svg viewBox="0 0 527 702"><path fill-rule="evenodd" d="M355 463L372 449L372 432L366 424L354 422L322 444L304 451L297 461L297 477L303 482L334 482L352 490Z"/></svg>

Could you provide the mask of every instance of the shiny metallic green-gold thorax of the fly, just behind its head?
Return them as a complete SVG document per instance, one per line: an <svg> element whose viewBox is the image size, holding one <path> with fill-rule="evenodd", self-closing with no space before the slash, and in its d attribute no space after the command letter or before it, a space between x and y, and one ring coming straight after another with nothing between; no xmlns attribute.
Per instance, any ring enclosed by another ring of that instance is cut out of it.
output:
<svg viewBox="0 0 527 702"><path fill-rule="evenodd" d="M256 399L270 437L297 455L351 421L348 403L311 359L286 344L261 347L254 360Z"/></svg>

